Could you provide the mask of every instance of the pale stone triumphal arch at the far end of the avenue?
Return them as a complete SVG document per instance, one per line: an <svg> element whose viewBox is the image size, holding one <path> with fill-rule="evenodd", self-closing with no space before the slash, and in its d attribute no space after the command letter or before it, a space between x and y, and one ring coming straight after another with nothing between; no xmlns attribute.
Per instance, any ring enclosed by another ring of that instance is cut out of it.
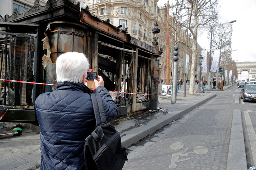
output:
<svg viewBox="0 0 256 170"><path fill-rule="evenodd" d="M242 71L246 70L249 72L249 78L256 78L256 62L237 62L237 80L241 80Z"/></svg>

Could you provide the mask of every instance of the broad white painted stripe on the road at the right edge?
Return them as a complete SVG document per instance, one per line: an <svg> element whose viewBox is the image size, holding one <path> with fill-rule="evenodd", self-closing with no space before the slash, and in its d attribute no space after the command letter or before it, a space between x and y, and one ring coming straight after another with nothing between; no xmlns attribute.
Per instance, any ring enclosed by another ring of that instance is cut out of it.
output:
<svg viewBox="0 0 256 170"><path fill-rule="evenodd" d="M249 136L249 141L252 149L252 158L253 158L254 165L256 165L256 134L252 126L251 118L247 111L244 111L244 117L245 117L245 124L247 128L248 136Z"/></svg>

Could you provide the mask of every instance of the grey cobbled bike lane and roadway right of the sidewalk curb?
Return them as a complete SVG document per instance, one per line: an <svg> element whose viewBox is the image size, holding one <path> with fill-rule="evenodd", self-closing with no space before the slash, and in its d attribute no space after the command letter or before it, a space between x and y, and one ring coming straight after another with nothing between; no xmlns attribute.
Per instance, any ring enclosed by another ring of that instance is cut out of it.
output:
<svg viewBox="0 0 256 170"><path fill-rule="evenodd" d="M129 147L129 161L123 169L226 169L234 109L241 110L243 126L246 126L248 167L255 165L256 103L235 102L240 97L240 89L236 85L216 93L215 98L175 123Z"/></svg>

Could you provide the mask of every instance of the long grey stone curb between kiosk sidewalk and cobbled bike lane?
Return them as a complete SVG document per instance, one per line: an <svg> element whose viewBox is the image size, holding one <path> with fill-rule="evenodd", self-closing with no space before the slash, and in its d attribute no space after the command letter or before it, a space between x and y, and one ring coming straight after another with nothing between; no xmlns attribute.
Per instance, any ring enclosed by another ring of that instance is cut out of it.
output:
<svg viewBox="0 0 256 170"><path fill-rule="evenodd" d="M173 120L185 115L189 111L204 104L206 101L211 100L215 96L216 96L216 94L213 94L212 96L210 96L192 106L188 106L187 108L185 107L185 109L182 111L172 112L171 114L165 115L158 119L154 119L154 120L148 122L146 125L143 125L143 126L140 126L137 128L133 128L133 129L127 131L126 134L121 134L122 146L124 146L125 148L131 146L132 144L138 142L140 139L155 132L157 129L162 128L164 125L172 122Z"/></svg>

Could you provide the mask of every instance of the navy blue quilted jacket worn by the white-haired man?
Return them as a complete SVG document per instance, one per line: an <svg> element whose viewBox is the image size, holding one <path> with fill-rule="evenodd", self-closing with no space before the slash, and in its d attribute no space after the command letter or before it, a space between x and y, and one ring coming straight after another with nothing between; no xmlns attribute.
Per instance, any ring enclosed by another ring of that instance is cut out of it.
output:
<svg viewBox="0 0 256 170"><path fill-rule="evenodd" d="M107 121L118 115L116 103L99 86ZM53 92L41 94L35 102L40 125L41 170L85 169L85 138L95 129L91 90L82 83L58 83Z"/></svg>

